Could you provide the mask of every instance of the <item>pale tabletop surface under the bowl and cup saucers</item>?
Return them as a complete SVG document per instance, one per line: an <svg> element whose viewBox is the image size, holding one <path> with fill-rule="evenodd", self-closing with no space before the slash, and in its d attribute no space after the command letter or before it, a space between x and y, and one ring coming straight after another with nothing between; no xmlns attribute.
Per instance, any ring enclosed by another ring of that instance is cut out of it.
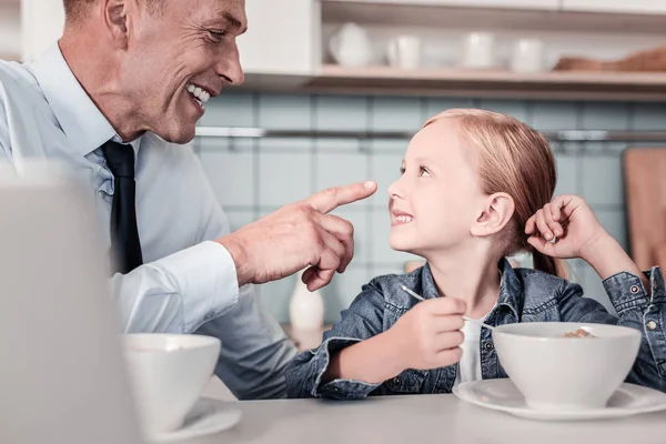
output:
<svg viewBox="0 0 666 444"><path fill-rule="evenodd" d="M471 405L454 395L370 397L364 401L231 402L235 427L195 440L225 443L666 443L666 412L594 422L537 422Z"/></svg>

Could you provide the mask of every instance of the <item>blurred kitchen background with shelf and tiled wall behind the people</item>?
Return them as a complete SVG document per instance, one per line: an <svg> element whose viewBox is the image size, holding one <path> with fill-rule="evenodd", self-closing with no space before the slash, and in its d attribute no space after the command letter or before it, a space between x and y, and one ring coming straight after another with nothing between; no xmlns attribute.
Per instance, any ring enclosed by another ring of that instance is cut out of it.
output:
<svg viewBox="0 0 666 444"><path fill-rule="evenodd" d="M0 0L0 53L34 57L58 3ZM326 322L370 279L417 260L387 245L386 188L408 137L448 108L505 112L546 132L557 193L585 198L627 250L642 249L640 266L657 263L666 0L246 0L246 82L206 104L193 148L233 229L327 186L379 182L375 196L335 212L353 222L356 254L322 291ZM628 165L624 153L637 147ZM612 311L594 270L569 265ZM281 323L296 281L258 286Z"/></svg>

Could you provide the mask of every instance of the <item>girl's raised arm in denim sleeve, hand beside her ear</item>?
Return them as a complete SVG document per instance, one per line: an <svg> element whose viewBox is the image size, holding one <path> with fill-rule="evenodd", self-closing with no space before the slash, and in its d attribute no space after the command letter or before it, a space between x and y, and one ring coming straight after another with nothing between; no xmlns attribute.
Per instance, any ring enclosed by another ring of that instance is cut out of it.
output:
<svg viewBox="0 0 666 444"><path fill-rule="evenodd" d="M622 246L577 196L558 196L526 224L529 243L555 258L581 258L603 280L617 312L610 315L598 302L581 297L583 289L567 283L559 294L563 321L607 323L642 332L643 340L628 382L666 391L666 289L658 266L642 273ZM555 242L551 242L553 235Z"/></svg>

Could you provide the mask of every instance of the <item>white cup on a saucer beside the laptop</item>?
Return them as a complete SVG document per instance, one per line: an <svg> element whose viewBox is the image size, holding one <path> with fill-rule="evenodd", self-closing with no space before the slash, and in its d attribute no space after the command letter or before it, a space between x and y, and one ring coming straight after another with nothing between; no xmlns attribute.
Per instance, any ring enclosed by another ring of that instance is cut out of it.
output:
<svg viewBox="0 0 666 444"><path fill-rule="evenodd" d="M179 428L210 381L220 340L194 334L127 334L123 354L144 435Z"/></svg>

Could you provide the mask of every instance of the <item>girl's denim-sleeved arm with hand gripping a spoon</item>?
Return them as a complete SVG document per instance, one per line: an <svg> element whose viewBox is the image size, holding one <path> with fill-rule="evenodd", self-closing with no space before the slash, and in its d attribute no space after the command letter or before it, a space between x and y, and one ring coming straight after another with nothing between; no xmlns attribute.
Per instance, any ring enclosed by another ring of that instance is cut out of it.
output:
<svg viewBox="0 0 666 444"><path fill-rule="evenodd" d="M396 283L387 287L403 291ZM404 370L437 369L460 360L463 301L428 299L393 325L384 322L385 304L377 285L365 285L324 334L322 345L296 356L287 367L287 396L361 398Z"/></svg>

